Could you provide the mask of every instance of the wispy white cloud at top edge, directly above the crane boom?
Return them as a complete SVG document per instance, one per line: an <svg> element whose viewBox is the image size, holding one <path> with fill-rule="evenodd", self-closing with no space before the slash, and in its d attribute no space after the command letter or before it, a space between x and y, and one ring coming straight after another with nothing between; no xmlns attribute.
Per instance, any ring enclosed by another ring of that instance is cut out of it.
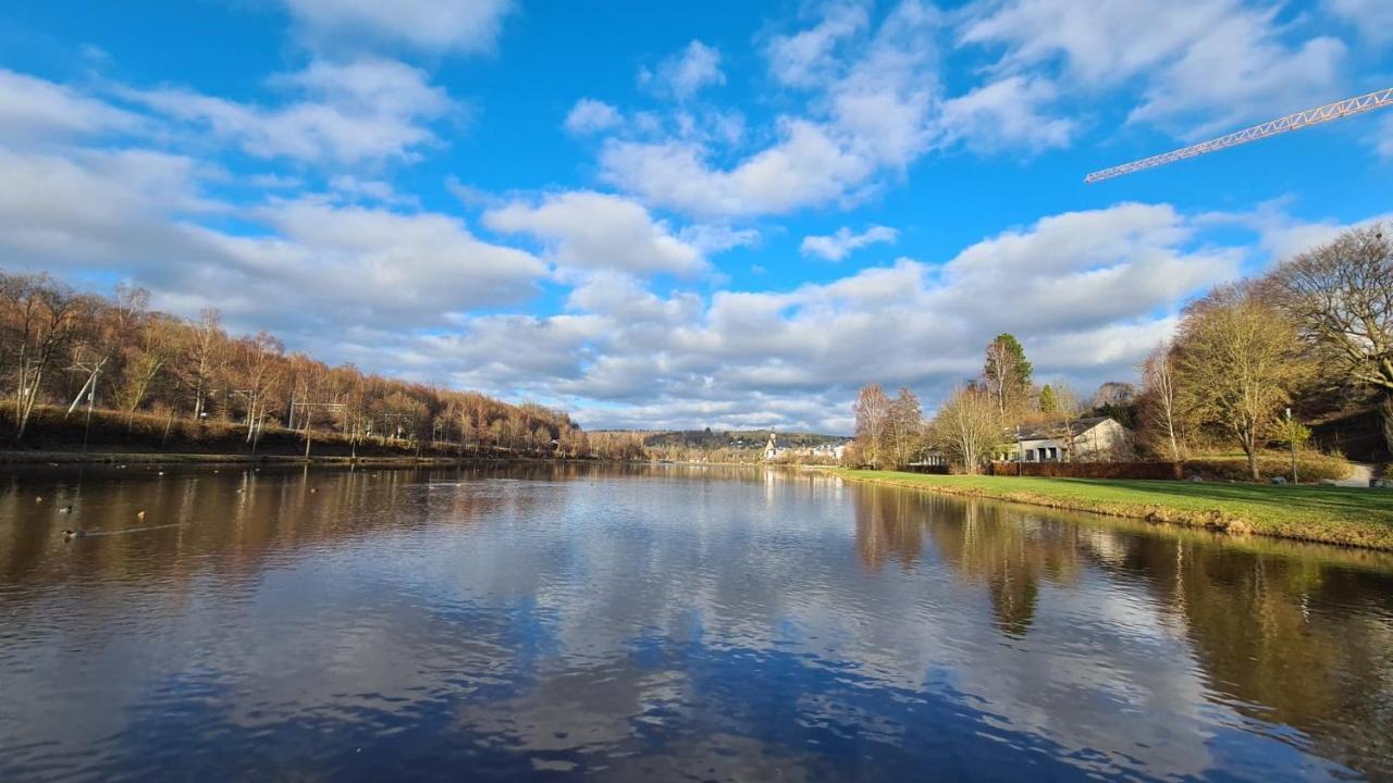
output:
<svg viewBox="0 0 1393 783"><path fill-rule="evenodd" d="M995 70L1059 78L1073 91L1144 85L1134 121L1202 135L1329 95L1344 46L1300 39L1277 8L1240 0L1007 0L979 3L964 43L1004 45ZM1181 125L1184 124L1184 125Z"/></svg>

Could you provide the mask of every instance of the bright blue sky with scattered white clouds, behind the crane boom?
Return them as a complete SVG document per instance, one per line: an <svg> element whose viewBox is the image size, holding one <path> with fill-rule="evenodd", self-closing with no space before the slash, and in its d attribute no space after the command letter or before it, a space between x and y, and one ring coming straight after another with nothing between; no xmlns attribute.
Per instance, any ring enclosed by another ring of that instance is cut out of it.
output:
<svg viewBox="0 0 1393 783"><path fill-rule="evenodd" d="M1131 380L1184 302L1386 219L1393 3L8 3L0 265L586 426L846 432L1013 332Z"/></svg>

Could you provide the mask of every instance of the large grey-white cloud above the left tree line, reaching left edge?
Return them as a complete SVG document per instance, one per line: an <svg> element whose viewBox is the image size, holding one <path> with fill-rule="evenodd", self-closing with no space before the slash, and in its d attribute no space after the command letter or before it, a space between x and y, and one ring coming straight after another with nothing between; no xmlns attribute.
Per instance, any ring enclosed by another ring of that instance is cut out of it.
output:
<svg viewBox="0 0 1393 783"><path fill-rule="evenodd" d="M117 272L157 307L221 308L287 337L344 325L439 327L453 313L517 304L547 272L534 255L475 238L454 217L313 199L234 208L201 195L202 167L124 150L71 157L0 153L7 265ZM235 215L237 234L201 224ZM329 354L334 355L334 354Z"/></svg>

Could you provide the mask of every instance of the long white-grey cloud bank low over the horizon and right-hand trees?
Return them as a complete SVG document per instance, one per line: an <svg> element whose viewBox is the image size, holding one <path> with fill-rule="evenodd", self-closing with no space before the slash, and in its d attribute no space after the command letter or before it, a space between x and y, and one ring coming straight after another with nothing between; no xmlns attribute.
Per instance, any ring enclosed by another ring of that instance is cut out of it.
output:
<svg viewBox="0 0 1393 783"><path fill-rule="evenodd" d="M554 400L592 426L844 432L858 386L908 385L933 405L979 372L982 346L1003 330L1024 339L1043 375L1085 386L1134 378L1185 298L1247 258L1208 247L1199 231L1170 206L1123 203L1046 217L942 263L903 258L829 283L709 298L600 272L567 297L560 320L506 322L532 347L517 362L497 316L432 337L429 355L460 383ZM464 351L458 361L433 352L446 344ZM524 366L536 361L559 369Z"/></svg>

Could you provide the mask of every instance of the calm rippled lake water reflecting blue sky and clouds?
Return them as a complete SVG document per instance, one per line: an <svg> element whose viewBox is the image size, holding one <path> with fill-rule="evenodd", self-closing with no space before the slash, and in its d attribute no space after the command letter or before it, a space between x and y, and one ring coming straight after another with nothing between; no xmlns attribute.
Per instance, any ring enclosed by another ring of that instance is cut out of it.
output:
<svg viewBox="0 0 1393 783"><path fill-rule="evenodd" d="M777 471L0 475L4 780L1389 779L1390 726L1373 553Z"/></svg>

